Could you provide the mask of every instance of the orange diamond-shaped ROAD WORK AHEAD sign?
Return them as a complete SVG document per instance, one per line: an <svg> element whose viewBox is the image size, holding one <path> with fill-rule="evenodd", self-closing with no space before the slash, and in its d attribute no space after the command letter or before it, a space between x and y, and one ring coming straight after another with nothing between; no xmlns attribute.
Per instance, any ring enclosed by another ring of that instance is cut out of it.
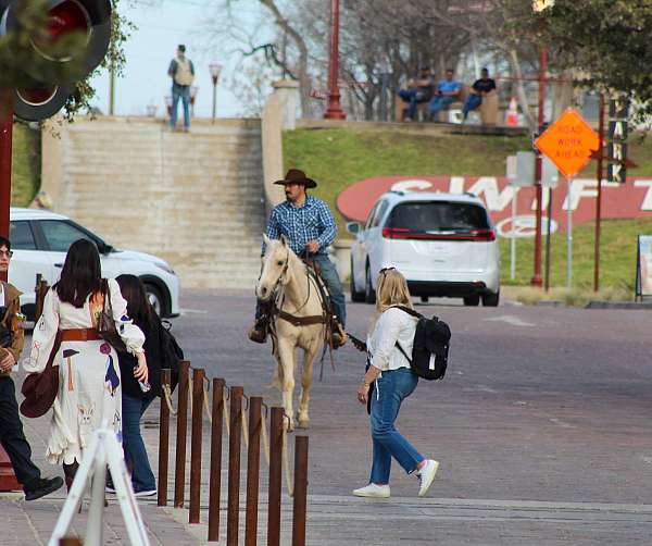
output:
<svg viewBox="0 0 652 546"><path fill-rule="evenodd" d="M568 108L535 140L535 146L566 178L573 178L600 148L600 137L579 113Z"/></svg>

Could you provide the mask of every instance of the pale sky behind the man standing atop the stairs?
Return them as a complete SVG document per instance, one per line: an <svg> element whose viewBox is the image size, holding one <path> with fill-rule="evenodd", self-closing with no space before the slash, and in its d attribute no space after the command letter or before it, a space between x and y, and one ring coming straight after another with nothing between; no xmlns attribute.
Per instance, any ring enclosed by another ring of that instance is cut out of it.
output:
<svg viewBox="0 0 652 546"><path fill-rule="evenodd" d="M258 20L262 8L256 1L239 2L244 17ZM206 23L211 16L218 15L215 3L211 0L121 0L121 14L137 29L124 46L127 63L123 76L116 79L116 115L145 115L149 104L158 107L158 116L163 115L165 96L171 94L167 66L176 54L178 44L186 45L186 54L195 64L195 85L199 88L195 115L210 117L212 114L213 83L209 72L212 61L224 65L217 84L217 116L242 114L242 104L227 88L224 77L233 73L237 60L223 51L235 45L223 41L220 45L222 52L208 47L210 30ZM109 82L105 72L91 80L97 92L91 104L104 113L109 112Z"/></svg>

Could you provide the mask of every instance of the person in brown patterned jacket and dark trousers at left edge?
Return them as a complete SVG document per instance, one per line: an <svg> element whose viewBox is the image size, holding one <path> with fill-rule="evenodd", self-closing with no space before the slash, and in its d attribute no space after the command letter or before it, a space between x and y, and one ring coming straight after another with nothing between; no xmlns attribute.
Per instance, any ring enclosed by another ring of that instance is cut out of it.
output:
<svg viewBox="0 0 652 546"><path fill-rule="evenodd" d="M11 243L0 237L0 272L9 271L11 256ZM0 282L0 444L23 486L25 500L36 500L59 489L63 480L59 476L41 477L40 470L32 462L32 448L18 414L16 389L10 374L25 343L20 297L15 286Z"/></svg>

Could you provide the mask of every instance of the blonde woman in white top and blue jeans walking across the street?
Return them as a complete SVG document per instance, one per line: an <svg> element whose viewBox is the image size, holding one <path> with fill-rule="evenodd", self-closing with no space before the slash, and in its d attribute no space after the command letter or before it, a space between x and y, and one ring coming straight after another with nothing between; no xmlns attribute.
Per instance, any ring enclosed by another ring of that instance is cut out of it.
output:
<svg viewBox="0 0 652 546"><path fill-rule="evenodd" d="M401 404L418 382L410 361L397 346L400 344L406 355L412 353L417 319L397 306L413 309L410 290L399 271L386 268L378 275L377 317L366 342L369 365L358 389L361 404L367 404L371 398L373 462L369 483L353 491L356 497L390 496L392 457L408 474L416 473L421 481L419 497L428 493L439 468L439 462L424 458L394 426Z"/></svg>

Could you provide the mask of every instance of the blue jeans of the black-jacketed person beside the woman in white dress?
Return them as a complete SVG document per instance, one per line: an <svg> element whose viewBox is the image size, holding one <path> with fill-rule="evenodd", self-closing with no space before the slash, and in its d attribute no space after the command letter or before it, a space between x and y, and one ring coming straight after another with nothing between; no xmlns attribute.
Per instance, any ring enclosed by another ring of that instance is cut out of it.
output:
<svg viewBox="0 0 652 546"><path fill-rule="evenodd" d="M134 492L155 491L156 480L140 435L140 419L155 398L151 390L143 398L133 398L123 392L123 449L127 468L133 467Z"/></svg>

